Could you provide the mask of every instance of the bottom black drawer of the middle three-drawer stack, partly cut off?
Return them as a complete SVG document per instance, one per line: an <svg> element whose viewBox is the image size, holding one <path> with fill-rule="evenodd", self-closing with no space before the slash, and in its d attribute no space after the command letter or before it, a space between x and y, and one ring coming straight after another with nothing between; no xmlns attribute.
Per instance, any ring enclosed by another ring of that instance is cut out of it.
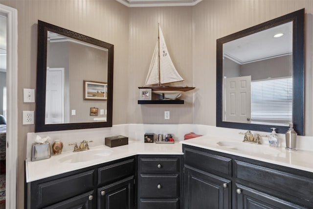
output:
<svg viewBox="0 0 313 209"><path fill-rule="evenodd" d="M179 209L179 199L140 199L142 209Z"/></svg>

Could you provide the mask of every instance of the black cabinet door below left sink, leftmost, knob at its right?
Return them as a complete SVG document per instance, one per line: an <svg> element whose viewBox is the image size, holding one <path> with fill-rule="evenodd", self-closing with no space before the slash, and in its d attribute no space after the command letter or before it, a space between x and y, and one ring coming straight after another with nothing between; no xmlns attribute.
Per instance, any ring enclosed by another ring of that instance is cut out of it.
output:
<svg viewBox="0 0 313 209"><path fill-rule="evenodd" d="M93 209L93 202L93 191L90 191L44 209Z"/></svg>

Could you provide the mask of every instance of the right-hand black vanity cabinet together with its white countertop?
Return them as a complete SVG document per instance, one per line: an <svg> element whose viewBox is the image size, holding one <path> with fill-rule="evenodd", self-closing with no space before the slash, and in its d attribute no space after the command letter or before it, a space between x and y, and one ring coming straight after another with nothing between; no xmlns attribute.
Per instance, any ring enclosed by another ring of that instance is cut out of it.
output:
<svg viewBox="0 0 313 209"><path fill-rule="evenodd" d="M313 208L312 151L219 140L183 142L184 209Z"/></svg>

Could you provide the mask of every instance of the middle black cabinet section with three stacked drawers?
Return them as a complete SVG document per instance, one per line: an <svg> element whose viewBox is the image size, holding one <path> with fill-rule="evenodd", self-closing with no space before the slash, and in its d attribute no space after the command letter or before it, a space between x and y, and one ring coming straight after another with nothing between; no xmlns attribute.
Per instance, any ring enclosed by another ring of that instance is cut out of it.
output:
<svg viewBox="0 0 313 209"><path fill-rule="evenodd" d="M181 208L181 156L139 155L137 208Z"/></svg>

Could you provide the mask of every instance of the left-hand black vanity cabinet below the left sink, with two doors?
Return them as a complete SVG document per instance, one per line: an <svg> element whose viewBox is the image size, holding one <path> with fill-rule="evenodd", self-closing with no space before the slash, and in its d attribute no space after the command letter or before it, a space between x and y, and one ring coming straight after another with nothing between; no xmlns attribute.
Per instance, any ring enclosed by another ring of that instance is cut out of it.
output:
<svg viewBox="0 0 313 209"><path fill-rule="evenodd" d="M30 182L27 209L135 209L135 168L129 157Z"/></svg>

